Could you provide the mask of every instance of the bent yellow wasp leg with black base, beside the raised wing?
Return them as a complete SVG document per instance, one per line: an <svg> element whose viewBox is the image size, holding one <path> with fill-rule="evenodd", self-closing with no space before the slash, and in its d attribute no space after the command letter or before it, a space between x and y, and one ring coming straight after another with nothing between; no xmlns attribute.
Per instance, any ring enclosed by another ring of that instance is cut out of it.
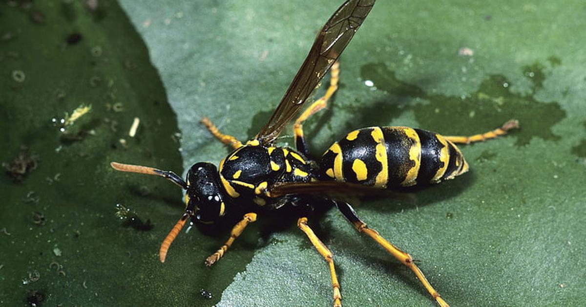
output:
<svg viewBox="0 0 586 307"><path fill-rule="evenodd" d="M295 120L295 124L293 126L293 133L295 134L295 147L298 151L304 154L306 157L309 156L309 149L307 144L305 143L305 138L303 137L303 122L312 116L313 114L319 112L320 110L324 109L328 106L328 99L332 97L333 93L336 92L338 89L338 80L340 75L340 63L336 62L332 65L332 77L330 78L330 85L326 93L318 100L315 100L314 103L311 104L301 116Z"/></svg>

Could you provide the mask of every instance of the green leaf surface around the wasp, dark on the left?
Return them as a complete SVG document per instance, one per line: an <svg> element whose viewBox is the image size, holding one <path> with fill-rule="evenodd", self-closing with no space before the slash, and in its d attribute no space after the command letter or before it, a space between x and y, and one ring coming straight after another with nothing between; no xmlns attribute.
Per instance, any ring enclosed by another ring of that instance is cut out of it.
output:
<svg viewBox="0 0 586 307"><path fill-rule="evenodd" d="M2 4L0 16L2 37L13 35L0 42L8 144L0 158L11 161L24 144L40 160L20 184L0 179L0 230L10 234L0 231L0 303L25 305L38 291L49 305L332 305L328 267L294 219L271 231L260 217L212 269L203 260L228 230L182 232L161 265L156 250L182 213L180 192L108 163L180 174L197 161L219 162L229 149L199 119L253 137L340 1L122 0L128 17L113 1L95 12L79 2L15 3ZM340 58L331 106L305 125L319 157L360 127L471 135L520 120L509 136L462 146L471 171L461 177L404 198L353 202L370 227L420 261L453 306L585 303L585 9L580 1L379 0ZM68 45L74 32L83 39ZM116 102L123 112L108 111ZM81 103L93 110L74 128L95 134L64 141L50 120ZM141 126L130 138L135 116ZM291 130L284 134L282 144L292 144ZM116 203L152 230L124 227ZM35 211L45 225L33 224ZM334 254L345 306L434 306L408 268L339 212L311 225ZM39 281L23 285L34 271Z"/></svg>

